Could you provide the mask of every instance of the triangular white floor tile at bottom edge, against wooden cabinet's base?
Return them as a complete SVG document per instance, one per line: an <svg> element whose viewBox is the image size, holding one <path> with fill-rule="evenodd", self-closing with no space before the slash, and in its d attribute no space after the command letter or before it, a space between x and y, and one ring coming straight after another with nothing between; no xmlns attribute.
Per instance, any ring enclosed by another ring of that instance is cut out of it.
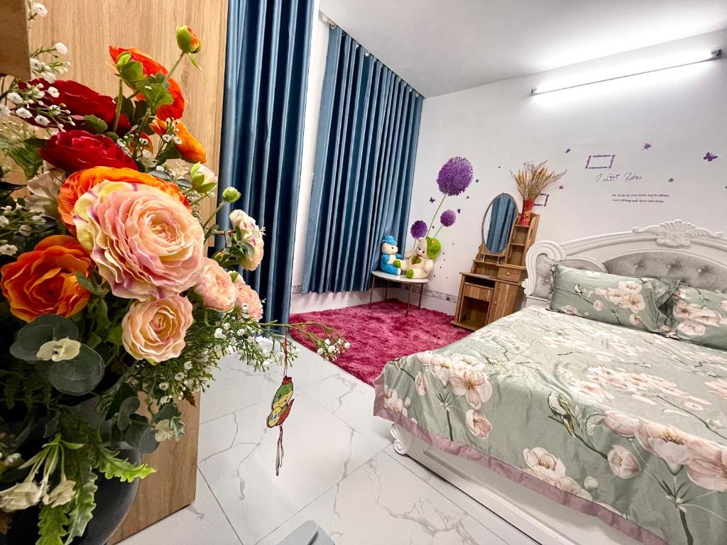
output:
<svg viewBox="0 0 727 545"><path fill-rule="evenodd" d="M197 472L197 498L190 506L169 515L120 545L241 545L212 491Z"/></svg>

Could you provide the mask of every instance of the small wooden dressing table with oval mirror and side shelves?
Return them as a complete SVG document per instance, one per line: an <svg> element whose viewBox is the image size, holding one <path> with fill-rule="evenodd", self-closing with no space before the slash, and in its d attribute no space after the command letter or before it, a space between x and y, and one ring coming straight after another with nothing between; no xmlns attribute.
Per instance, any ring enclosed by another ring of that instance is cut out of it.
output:
<svg viewBox="0 0 727 545"><path fill-rule="evenodd" d="M507 199L511 203L507 203ZM502 193L486 211L478 254L470 271L461 273L457 310L451 322L455 326L475 331L521 307L525 256L535 241L539 216L532 214L530 225L518 225L520 216L514 203L510 195ZM498 208L500 213L497 213ZM503 214L502 209L511 212ZM509 233L509 236L500 235L499 241L492 241L492 237L488 237L491 229ZM494 251L488 249L488 242Z"/></svg>

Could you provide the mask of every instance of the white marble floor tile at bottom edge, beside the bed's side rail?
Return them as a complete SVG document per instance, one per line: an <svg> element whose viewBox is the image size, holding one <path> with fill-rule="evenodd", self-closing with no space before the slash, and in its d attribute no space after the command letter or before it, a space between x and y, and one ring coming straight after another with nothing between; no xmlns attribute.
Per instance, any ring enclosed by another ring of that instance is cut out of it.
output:
<svg viewBox="0 0 727 545"><path fill-rule="evenodd" d="M276 545L315 520L336 545L505 545L427 483L380 452L259 542Z"/></svg>

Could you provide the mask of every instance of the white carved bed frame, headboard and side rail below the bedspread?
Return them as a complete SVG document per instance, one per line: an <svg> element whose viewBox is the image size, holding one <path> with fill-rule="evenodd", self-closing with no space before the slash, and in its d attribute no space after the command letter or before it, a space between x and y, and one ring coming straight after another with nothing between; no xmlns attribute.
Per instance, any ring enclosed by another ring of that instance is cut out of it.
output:
<svg viewBox="0 0 727 545"><path fill-rule="evenodd" d="M727 237L680 219L566 243L535 243L526 258L526 306L547 306L553 291L553 262L619 275L681 278L698 288L727 290ZM431 469L542 545L637 543L597 517L441 451L397 424L391 434L397 453Z"/></svg>

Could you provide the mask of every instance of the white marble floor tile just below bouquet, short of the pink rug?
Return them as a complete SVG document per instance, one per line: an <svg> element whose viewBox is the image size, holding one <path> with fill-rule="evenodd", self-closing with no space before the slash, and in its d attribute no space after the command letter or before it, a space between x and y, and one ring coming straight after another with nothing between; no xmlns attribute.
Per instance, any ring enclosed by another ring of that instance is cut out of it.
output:
<svg viewBox="0 0 727 545"><path fill-rule="evenodd" d="M337 372L340 372L337 366L305 347L300 347L300 356L289 370L296 387L303 387ZM272 399L282 377L282 367L259 372L241 362L237 356L222 358L219 368L214 371L212 386L202 394L200 421L210 421L262 400Z"/></svg>

